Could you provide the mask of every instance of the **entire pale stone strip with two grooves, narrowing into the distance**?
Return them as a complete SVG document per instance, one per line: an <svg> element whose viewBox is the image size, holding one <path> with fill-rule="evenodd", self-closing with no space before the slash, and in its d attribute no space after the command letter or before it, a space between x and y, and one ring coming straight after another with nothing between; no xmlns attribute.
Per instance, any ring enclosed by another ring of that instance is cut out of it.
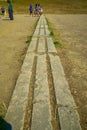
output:
<svg viewBox="0 0 87 130"><path fill-rule="evenodd" d="M12 124L13 130L23 130L33 60L34 56L37 55L31 130L53 129L51 124L53 115L50 105L50 98L53 95L49 93L46 57L50 59L51 78L53 78L53 80L50 79L53 82L53 86L50 87L54 87L55 90L55 97L53 98L56 98L57 101L58 108L56 109L59 114L61 130L81 130L76 104L65 79L64 70L53 45L53 40L48 36L50 31L43 15L40 17L36 28L15 86L6 120Z"/></svg>

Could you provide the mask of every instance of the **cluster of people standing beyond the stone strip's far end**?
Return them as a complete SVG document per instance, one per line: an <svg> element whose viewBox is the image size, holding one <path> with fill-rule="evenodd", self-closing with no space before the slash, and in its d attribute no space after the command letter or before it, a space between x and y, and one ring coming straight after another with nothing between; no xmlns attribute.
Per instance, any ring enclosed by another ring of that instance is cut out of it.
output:
<svg viewBox="0 0 87 130"><path fill-rule="evenodd" d="M40 16L43 13L43 9L40 4L35 4L34 8L32 4L29 6L29 12L32 16Z"/></svg>

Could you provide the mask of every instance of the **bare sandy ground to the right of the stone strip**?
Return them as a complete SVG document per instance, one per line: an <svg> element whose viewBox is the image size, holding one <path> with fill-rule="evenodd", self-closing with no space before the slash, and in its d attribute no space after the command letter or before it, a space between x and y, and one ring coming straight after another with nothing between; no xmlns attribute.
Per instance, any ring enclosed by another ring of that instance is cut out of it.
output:
<svg viewBox="0 0 87 130"><path fill-rule="evenodd" d="M83 130L87 130L87 15L46 15L56 39L57 48L77 104Z"/></svg>

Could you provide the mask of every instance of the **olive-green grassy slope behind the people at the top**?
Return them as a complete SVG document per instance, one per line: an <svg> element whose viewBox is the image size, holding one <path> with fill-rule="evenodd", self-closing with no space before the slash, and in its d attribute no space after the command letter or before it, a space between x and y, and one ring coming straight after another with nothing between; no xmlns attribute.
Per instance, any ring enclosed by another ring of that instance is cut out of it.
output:
<svg viewBox="0 0 87 130"><path fill-rule="evenodd" d="M12 0L15 13L28 13L29 4L40 3L44 13L87 13L87 0ZM0 0L0 6L7 2Z"/></svg>

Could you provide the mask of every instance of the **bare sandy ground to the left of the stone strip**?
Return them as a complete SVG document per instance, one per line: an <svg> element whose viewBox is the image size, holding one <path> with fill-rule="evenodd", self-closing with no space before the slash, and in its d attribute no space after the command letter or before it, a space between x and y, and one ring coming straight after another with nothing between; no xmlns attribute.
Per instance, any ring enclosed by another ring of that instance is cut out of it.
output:
<svg viewBox="0 0 87 130"><path fill-rule="evenodd" d="M0 115L5 115L36 21L29 15L0 18Z"/></svg>

